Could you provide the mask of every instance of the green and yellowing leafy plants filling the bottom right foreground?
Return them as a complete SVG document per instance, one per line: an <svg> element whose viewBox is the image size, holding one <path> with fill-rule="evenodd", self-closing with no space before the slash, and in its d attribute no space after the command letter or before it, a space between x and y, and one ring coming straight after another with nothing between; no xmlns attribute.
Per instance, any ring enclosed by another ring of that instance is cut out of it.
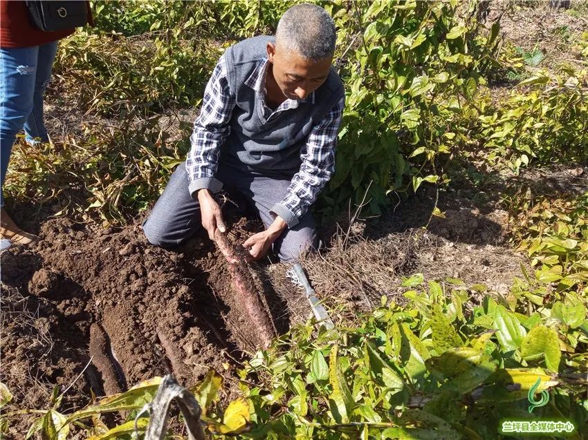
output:
<svg viewBox="0 0 588 440"><path fill-rule="evenodd" d="M571 419L586 434L588 402L569 374L587 365L585 301L572 326L555 305L529 313L526 301L491 296L472 305L455 285L430 282L405 298L414 307L383 298L358 325L317 337L297 327L252 358L241 373L255 408L250 436L496 439L502 418L535 417ZM538 378L552 403L529 414Z"/></svg>

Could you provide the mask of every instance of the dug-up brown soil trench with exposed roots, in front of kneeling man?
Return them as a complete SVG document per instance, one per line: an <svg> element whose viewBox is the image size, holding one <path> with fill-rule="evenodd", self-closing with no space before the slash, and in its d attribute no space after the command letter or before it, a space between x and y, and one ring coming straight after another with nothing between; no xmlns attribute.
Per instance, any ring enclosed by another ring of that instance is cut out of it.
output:
<svg viewBox="0 0 588 440"><path fill-rule="evenodd" d="M250 228L242 220L228 238ZM230 376L233 360L261 345L226 258L203 235L169 251L149 245L140 221L103 229L58 218L39 237L1 256L2 375L21 408L46 405L42 383L73 383L66 406L80 408L90 390L114 394L168 372L186 385L209 368ZM281 307L273 302L283 328Z"/></svg>

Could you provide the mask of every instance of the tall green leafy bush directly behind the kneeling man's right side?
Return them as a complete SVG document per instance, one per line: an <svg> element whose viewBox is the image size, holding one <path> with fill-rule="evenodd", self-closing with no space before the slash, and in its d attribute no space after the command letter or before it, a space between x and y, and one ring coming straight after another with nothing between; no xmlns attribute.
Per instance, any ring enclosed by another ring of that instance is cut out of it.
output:
<svg viewBox="0 0 588 440"><path fill-rule="evenodd" d="M461 122L494 65L499 27L482 35L477 3L467 13L457 1L335 4L347 104L324 213L366 194L380 213L390 191L446 180L439 157L468 131Z"/></svg>

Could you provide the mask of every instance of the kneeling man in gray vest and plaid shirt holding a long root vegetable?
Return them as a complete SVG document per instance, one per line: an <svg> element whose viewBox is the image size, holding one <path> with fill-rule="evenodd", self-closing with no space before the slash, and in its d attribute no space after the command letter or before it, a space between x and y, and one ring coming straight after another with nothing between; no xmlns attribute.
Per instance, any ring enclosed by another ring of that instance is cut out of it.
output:
<svg viewBox="0 0 588 440"><path fill-rule="evenodd" d="M244 242L252 259L273 247L283 261L316 246L309 207L335 169L344 90L331 67L335 23L320 6L300 4L274 37L231 46L205 89L192 149L156 202L143 230L171 247L201 225L226 231L213 195L255 209L266 230Z"/></svg>

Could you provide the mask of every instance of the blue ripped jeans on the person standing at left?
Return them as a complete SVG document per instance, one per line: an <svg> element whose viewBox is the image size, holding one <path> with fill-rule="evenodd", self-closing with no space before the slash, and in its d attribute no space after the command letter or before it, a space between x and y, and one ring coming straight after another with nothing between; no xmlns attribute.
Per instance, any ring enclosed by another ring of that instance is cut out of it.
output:
<svg viewBox="0 0 588 440"><path fill-rule="evenodd" d="M43 121L43 95L51 78L57 41L28 48L0 48L0 206L1 186L16 135L24 126L26 141L48 141Z"/></svg>

